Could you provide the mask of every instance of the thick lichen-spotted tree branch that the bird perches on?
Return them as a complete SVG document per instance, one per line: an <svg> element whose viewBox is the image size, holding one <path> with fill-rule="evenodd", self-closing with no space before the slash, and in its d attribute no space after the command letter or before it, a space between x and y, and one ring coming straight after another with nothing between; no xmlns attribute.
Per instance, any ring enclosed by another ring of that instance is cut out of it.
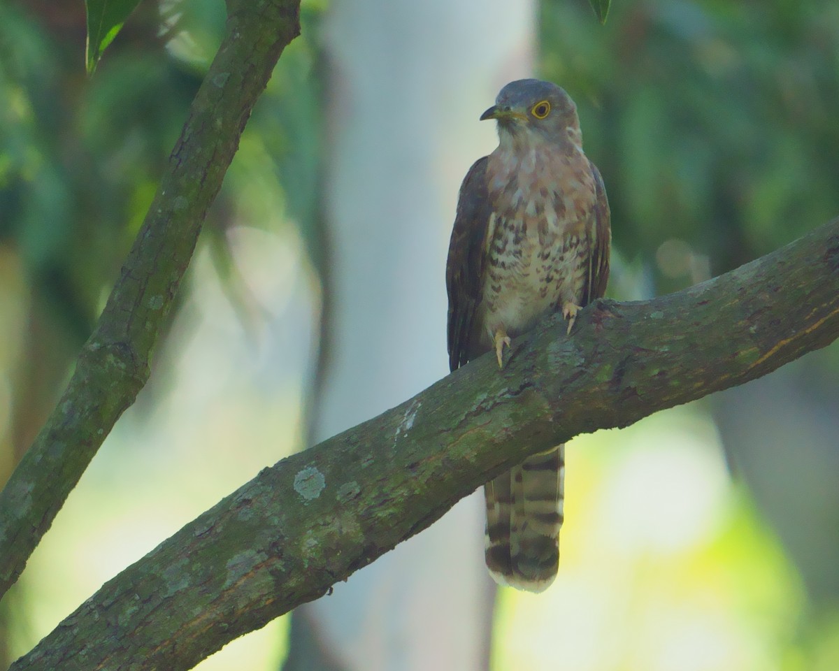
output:
<svg viewBox="0 0 839 671"><path fill-rule="evenodd" d="M748 382L837 335L839 220L677 294L597 301L571 337L547 320L513 343L503 371L483 356L264 469L12 668L191 668L323 596L525 455Z"/></svg>

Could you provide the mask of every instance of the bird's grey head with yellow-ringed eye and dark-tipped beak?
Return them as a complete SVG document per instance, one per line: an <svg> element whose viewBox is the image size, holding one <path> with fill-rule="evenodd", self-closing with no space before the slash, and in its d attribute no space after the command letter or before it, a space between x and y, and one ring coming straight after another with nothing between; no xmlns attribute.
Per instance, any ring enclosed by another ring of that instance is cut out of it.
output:
<svg viewBox="0 0 839 671"><path fill-rule="evenodd" d="M481 121L495 119L502 142L506 136L579 143L576 105L560 86L550 81L520 79L504 86Z"/></svg>

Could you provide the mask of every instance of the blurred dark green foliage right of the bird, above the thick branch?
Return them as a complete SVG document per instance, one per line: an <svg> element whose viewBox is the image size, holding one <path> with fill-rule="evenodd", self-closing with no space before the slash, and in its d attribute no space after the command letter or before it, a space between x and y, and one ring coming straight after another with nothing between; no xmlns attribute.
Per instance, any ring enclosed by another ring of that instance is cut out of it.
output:
<svg viewBox="0 0 839 671"><path fill-rule="evenodd" d="M771 252L839 212L839 6L830 0L541 5L539 70L576 97L615 243L656 293ZM666 250L665 250L666 251ZM678 251L678 248L677 248ZM665 272L666 271L666 272Z"/></svg>

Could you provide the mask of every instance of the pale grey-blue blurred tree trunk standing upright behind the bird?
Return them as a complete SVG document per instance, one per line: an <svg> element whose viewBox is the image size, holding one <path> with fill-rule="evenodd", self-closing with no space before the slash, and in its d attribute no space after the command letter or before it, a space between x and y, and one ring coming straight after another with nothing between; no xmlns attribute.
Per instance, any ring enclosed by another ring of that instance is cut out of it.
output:
<svg viewBox="0 0 839 671"><path fill-rule="evenodd" d="M495 144L481 112L530 74L534 7L337 2L326 35L332 263L315 442L446 374L456 194ZM297 611L285 671L487 668L495 588L482 548L482 502L470 497Z"/></svg>

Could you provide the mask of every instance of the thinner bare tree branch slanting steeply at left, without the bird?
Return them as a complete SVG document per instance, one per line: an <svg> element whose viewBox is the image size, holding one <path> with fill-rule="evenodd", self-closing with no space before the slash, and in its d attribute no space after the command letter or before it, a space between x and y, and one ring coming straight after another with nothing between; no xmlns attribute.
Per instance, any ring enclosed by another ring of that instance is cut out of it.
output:
<svg viewBox="0 0 839 671"><path fill-rule="evenodd" d="M280 53L300 34L299 10L299 0L228 3L226 37L96 330L58 406L0 493L0 596L149 379L154 344L206 211Z"/></svg>

